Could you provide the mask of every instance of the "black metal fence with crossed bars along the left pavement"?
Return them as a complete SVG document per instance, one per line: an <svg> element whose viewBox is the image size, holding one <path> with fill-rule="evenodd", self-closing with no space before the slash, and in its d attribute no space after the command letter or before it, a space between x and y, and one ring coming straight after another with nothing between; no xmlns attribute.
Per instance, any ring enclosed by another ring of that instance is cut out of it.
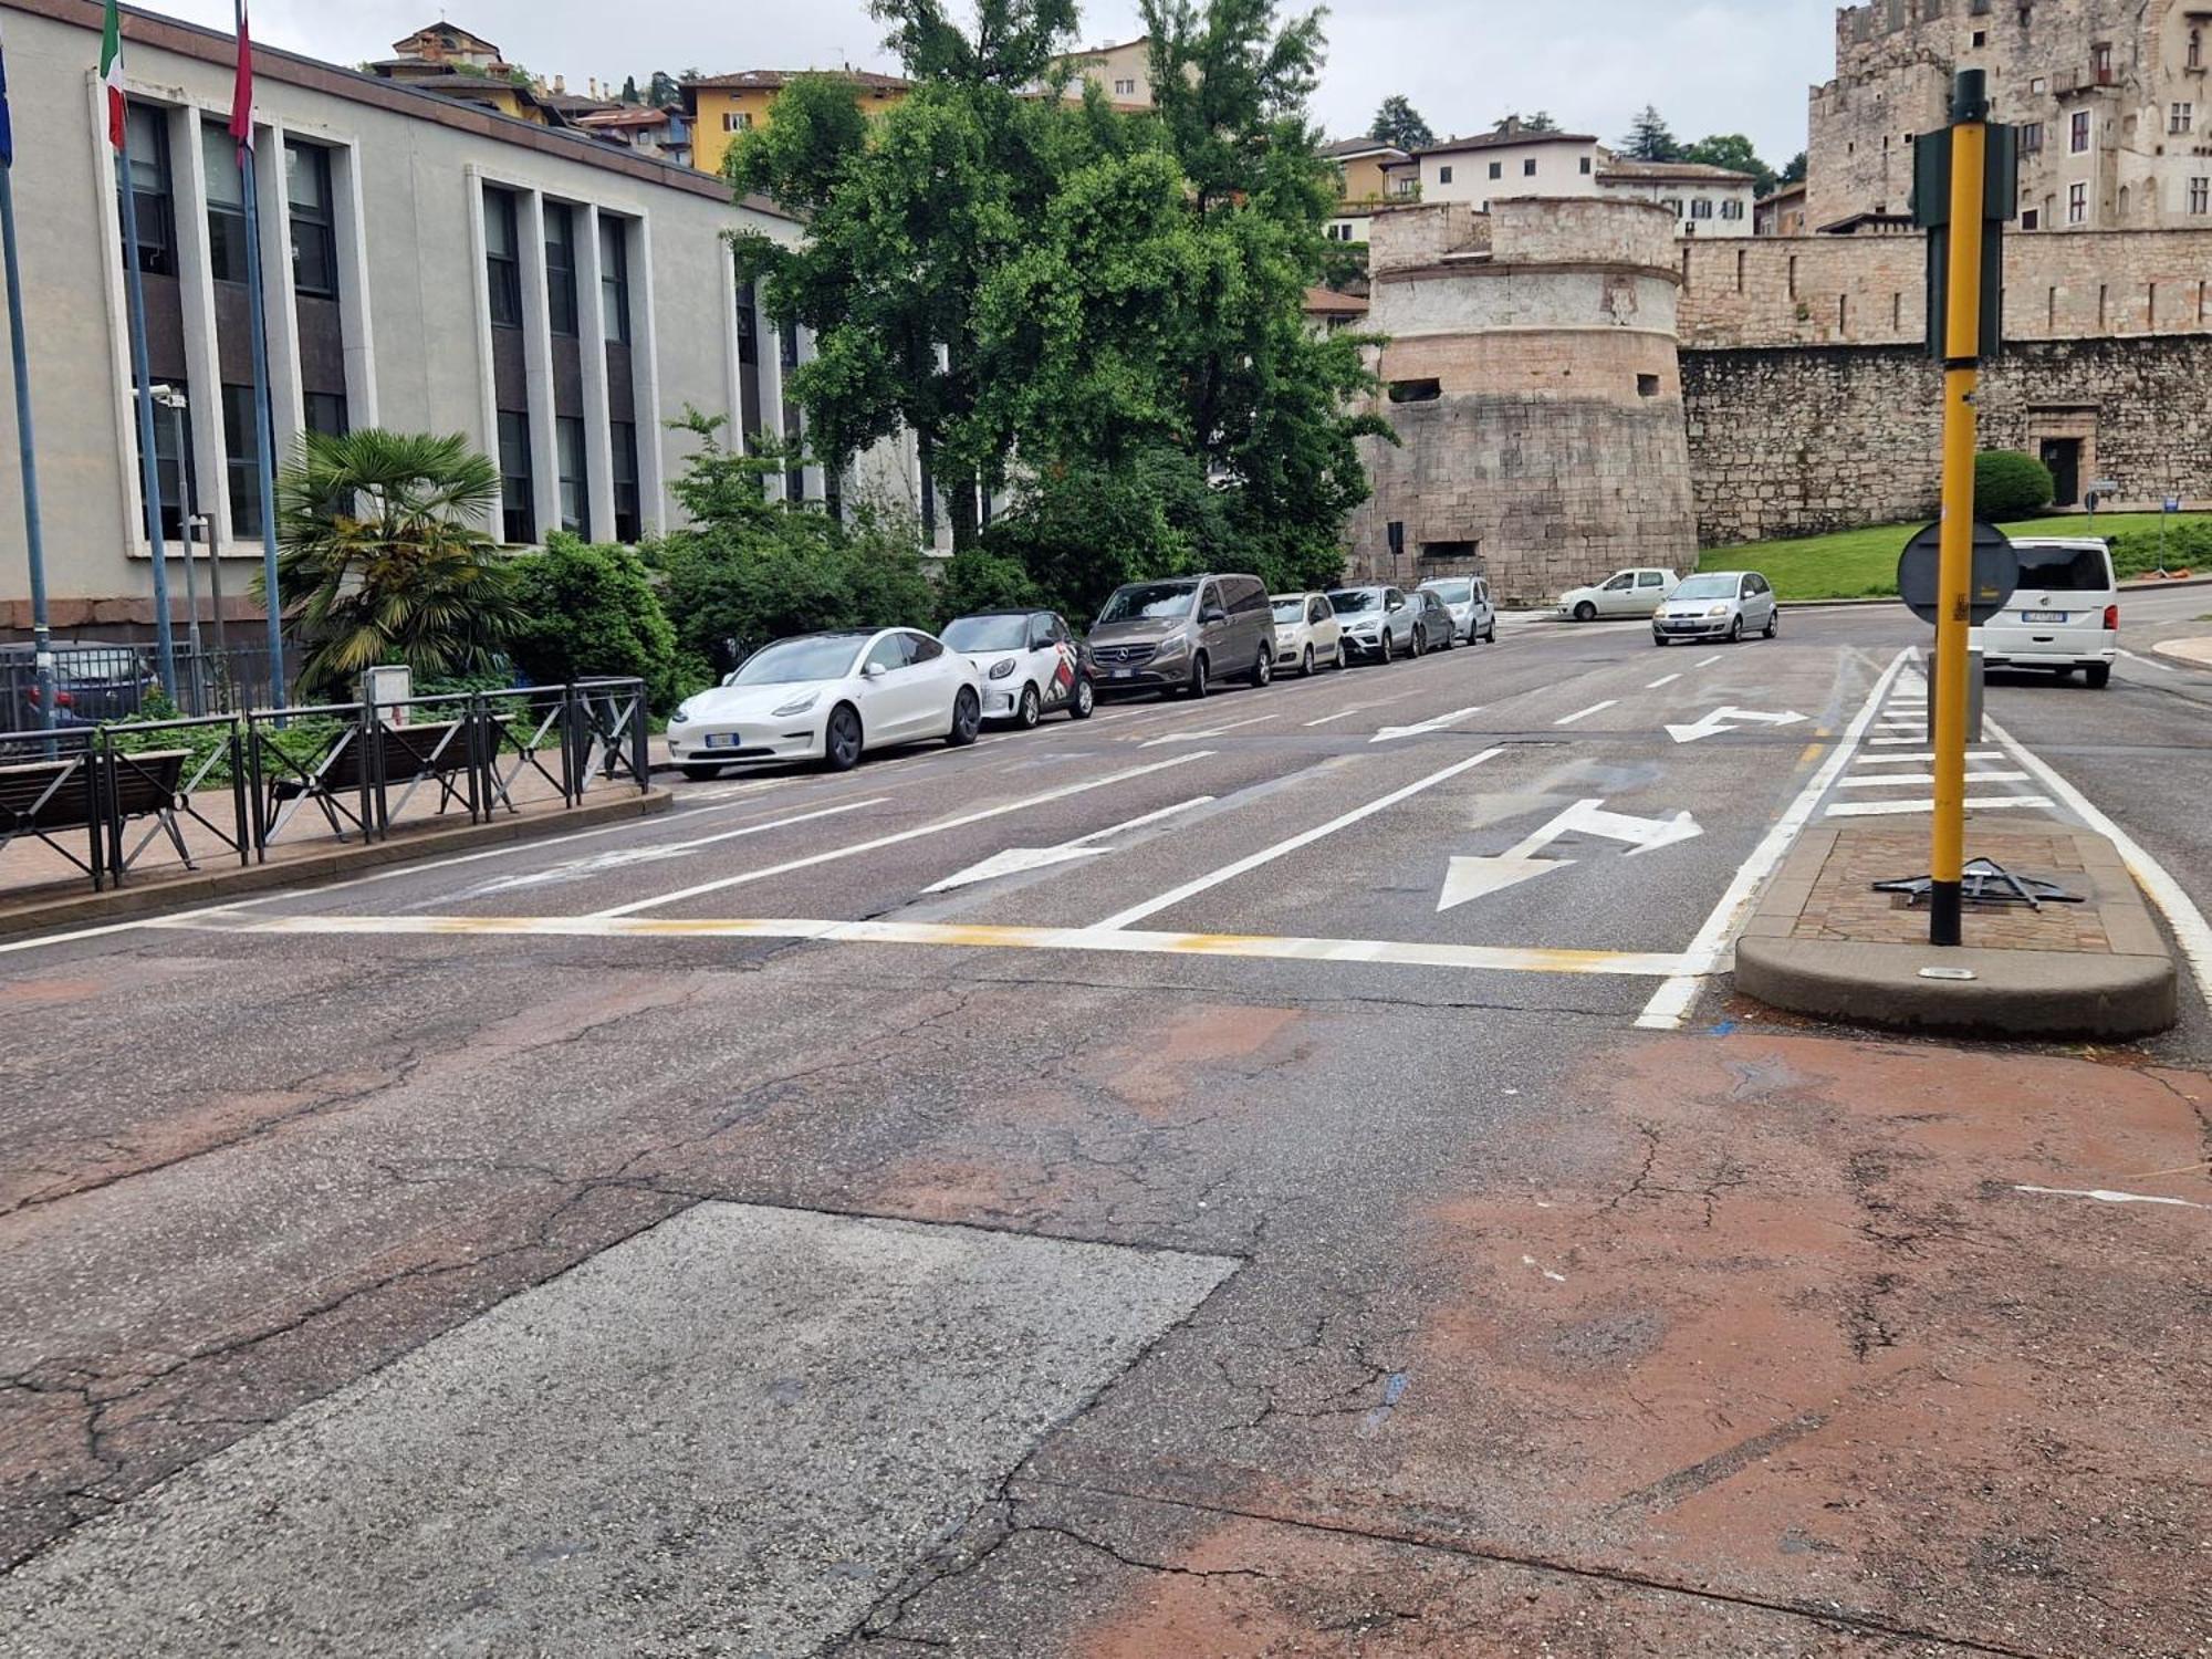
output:
<svg viewBox="0 0 2212 1659"><path fill-rule="evenodd" d="M0 732L0 854L35 841L106 889L148 854L268 863L323 834L385 841L416 801L489 823L599 783L650 787L639 679Z"/></svg>

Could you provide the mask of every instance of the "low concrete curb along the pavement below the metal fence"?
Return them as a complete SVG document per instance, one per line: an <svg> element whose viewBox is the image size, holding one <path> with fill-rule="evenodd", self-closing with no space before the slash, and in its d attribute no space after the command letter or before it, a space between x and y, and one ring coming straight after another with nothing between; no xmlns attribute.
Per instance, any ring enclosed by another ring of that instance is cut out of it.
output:
<svg viewBox="0 0 2212 1659"><path fill-rule="evenodd" d="M221 905L230 898L265 894L276 887L321 887L323 883L343 880L367 869L398 865L414 858L478 852L509 841L533 841L538 836L591 830L602 823L622 823L624 818L653 818L668 812L672 805L675 796L668 790L646 790L639 794L624 794L613 801L591 801L571 812L495 818L493 823L469 823L451 830L403 830L392 841L332 847L330 852L319 852L307 858L285 858L272 865L204 869L173 880L111 887L104 894L69 894L64 898L0 909L0 938L66 931L75 927L102 927L106 922L124 922L135 916L150 916L166 909Z"/></svg>

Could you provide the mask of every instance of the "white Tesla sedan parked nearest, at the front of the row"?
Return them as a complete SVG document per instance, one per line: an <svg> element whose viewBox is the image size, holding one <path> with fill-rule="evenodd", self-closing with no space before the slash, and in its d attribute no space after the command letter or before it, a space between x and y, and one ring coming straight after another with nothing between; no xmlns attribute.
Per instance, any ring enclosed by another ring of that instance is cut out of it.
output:
<svg viewBox="0 0 2212 1659"><path fill-rule="evenodd" d="M757 650L721 686L684 699L668 754L688 779L737 761L821 761L832 772L865 750L940 737L973 743L982 675L914 628L810 633Z"/></svg>

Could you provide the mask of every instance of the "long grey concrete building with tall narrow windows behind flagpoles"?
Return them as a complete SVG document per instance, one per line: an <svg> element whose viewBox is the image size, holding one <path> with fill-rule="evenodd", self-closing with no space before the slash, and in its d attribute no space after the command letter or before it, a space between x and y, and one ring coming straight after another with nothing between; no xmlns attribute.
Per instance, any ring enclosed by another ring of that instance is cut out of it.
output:
<svg viewBox="0 0 2212 1659"><path fill-rule="evenodd" d="M115 159L95 75L95 0L0 0L15 117L31 398L40 436L53 622L150 622ZM153 376L190 403L179 449L159 422L168 553L184 482L208 515L226 586L261 555L243 204L230 139L230 35L124 13L133 192ZM261 252L274 442L383 425L460 431L495 456L500 529L573 526L635 540L672 526L668 480L686 405L785 434L787 365L812 352L737 288L730 230L796 239L761 201L686 168L257 51ZM0 398L13 449L13 398ZM911 500L911 456L858 476L805 469L781 491ZM206 586L206 584L201 584ZM177 568L170 591L181 599ZM29 622L22 500L0 469L0 626Z"/></svg>

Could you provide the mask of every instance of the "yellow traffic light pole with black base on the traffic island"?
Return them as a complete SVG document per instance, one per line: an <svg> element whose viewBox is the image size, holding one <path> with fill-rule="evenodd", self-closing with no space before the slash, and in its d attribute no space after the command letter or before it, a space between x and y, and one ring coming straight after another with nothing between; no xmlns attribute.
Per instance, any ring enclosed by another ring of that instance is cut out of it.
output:
<svg viewBox="0 0 2212 1659"><path fill-rule="evenodd" d="M1951 270L1942 365L1942 571L1936 611L1936 847L1929 942L1960 945L1966 865L1966 628L1973 575L1975 396L1982 383L1982 215L1989 80L1962 71L1951 106Z"/></svg>

